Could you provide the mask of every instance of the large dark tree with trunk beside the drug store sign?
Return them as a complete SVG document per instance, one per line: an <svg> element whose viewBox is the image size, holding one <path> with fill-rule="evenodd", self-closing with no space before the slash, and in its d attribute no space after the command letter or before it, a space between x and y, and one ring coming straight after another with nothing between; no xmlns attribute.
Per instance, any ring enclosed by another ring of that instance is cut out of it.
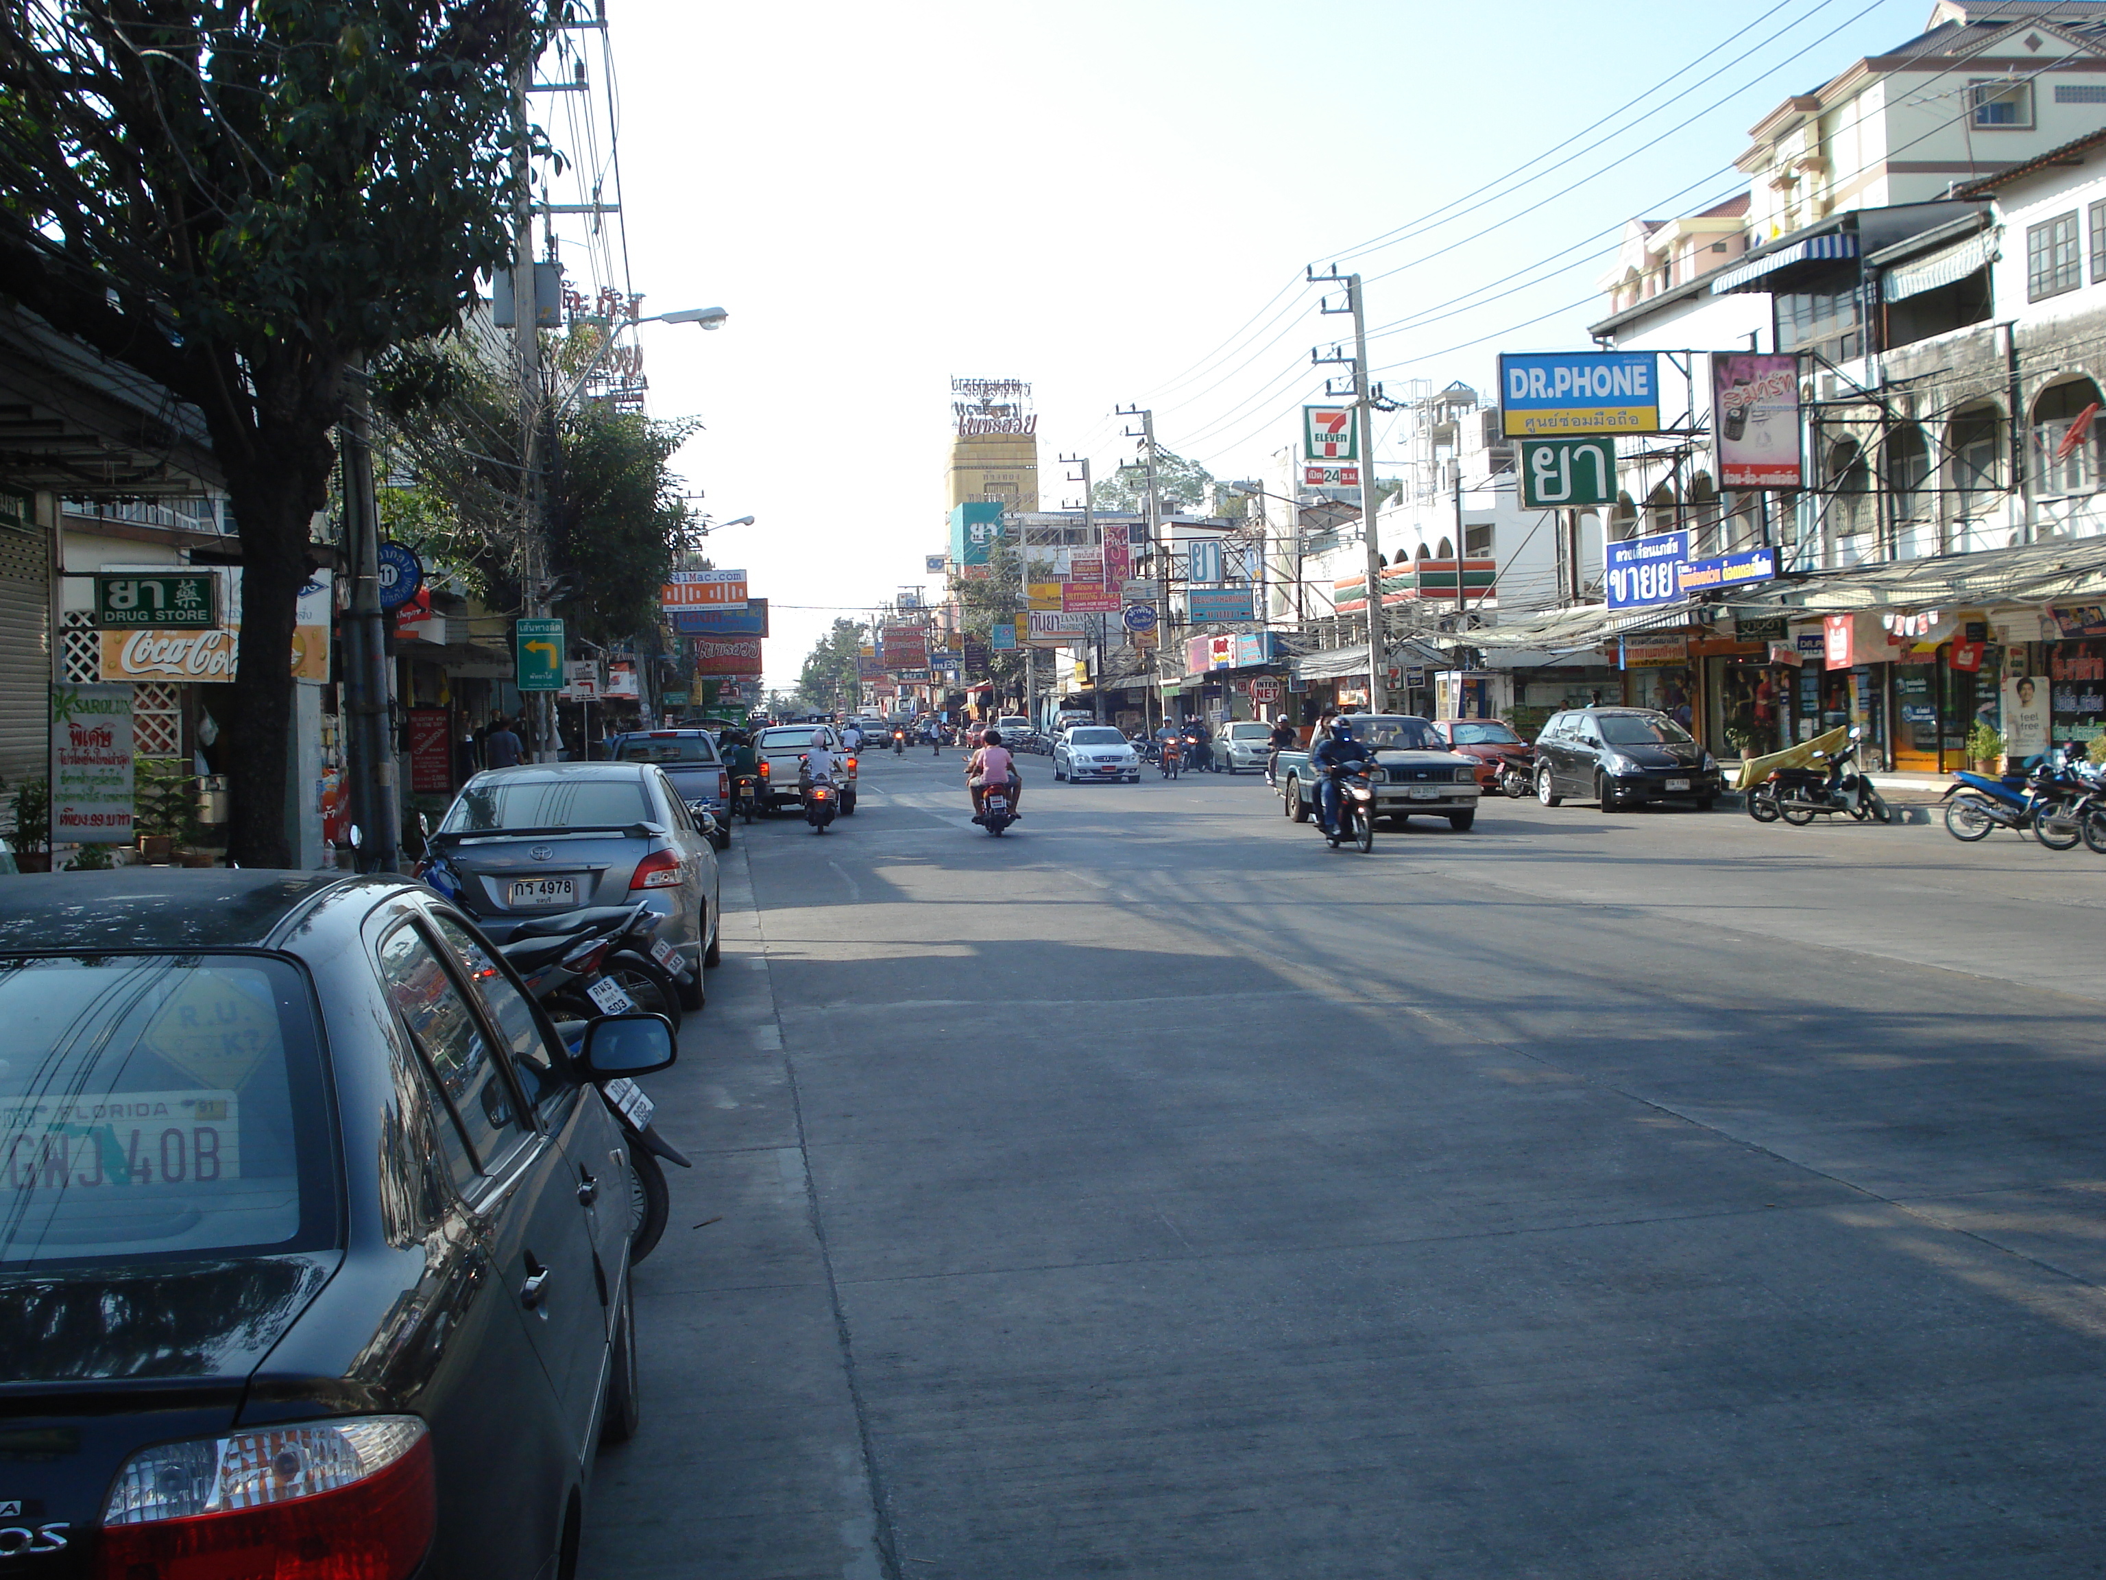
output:
<svg viewBox="0 0 2106 1580"><path fill-rule="evenodd" d="M347 369L505 261L562 0L8 0L0 293L206 421L240 522L232 855L286 864L295 600Z"/></svg>

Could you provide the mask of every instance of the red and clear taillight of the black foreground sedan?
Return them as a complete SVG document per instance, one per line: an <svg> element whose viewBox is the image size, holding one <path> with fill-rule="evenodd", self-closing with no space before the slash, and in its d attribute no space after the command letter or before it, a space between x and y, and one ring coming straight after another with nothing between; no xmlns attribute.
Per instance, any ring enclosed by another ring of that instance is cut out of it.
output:
<svg viewBox="0 0 2106 1580"><path fill-rule="evenodd" d="M141 1449L103 1506L97 1580L402 1580L438 1527L415 1416Z"/></svg>

